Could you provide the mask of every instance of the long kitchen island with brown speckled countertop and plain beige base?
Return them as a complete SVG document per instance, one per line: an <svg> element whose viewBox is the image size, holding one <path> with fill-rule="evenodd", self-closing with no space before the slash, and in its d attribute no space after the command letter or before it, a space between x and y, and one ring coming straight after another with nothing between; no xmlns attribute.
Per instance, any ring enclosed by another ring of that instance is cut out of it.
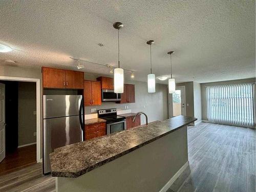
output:
<svg viewBox="0 0 256 192"><path fill-rule="evenodd" d="M57 191L165 191L188 165L186 125L196 120L177 116L57 148Z"/></svg>

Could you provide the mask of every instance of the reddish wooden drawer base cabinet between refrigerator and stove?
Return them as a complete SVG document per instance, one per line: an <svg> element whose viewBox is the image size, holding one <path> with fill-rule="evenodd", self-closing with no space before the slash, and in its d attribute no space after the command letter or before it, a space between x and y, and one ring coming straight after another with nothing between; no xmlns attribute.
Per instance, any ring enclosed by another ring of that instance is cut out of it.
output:
<svg viewBox="0 0 256 192"><path fill-rule="evenodd" d="M84 138L86 140L106 135L106 123L94 123L85 126Z"/></svg>

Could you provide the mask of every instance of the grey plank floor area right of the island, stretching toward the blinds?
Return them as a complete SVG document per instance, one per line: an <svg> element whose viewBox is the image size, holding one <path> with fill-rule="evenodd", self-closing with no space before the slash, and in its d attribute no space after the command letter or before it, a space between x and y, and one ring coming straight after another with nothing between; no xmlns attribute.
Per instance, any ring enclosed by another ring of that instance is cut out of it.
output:
<svg viewBox="0 0 256 192"><path fill-rule="evenodd" d="M189 166L168 192L255 191L255 130L199 123L188 126Z"/></svg>

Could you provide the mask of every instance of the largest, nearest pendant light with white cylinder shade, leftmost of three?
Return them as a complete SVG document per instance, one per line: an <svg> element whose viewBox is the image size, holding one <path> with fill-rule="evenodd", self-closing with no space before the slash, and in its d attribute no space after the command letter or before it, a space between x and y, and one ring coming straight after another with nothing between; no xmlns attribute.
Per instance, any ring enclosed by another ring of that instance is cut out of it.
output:
<svg viewBox="0 0 256 192"><path fill-rule="evenodd" d="M123 93L123 69L120 68L119 59L119 29L123 28L123 24L116 22L113 27L117 29L118 32L118 68L114 69L114 92Z"/></svg>

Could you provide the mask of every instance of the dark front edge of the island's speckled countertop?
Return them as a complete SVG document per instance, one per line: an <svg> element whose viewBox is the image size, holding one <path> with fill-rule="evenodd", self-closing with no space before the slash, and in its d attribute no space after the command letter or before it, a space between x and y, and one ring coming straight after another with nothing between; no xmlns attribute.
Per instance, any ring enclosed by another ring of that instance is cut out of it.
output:
<svg viewBox="0 0 256 192"><path fill-rule="evenodd" d="M144 146L144 145L146 145L146 144L148 144L148 143L151 143L151 142L153 142L153 141L155 141L155 140L157 140L157 139L159 139L159 138L161 138L161 137L164 137L165 135L168 135L168 134L170 134L170 133L172 133L172 132L174 132L174 131L176 131L176 130L179 130L181 127L186 126L186 125L188 125L188 124L190 124L190 123L193 123L193 122L195 122L196 120L197 120L197 118L194 118L194 119L192 119L192 120L190 120L190 121L188 121L188 122L186 122L186 123L184 123L184 124L182 124L182 125L176 127L176 128L173 129L173 130L170 130L170 131L168 131L168 132L166 132L166 133L164 133L164 134L162 134L162 135L159 135L159 136L157 136L157 137L155 137L155 138L153 138L153 139L150 139L150 140L145 141L145 142L143 142L143 143L141 143L141 144L139 144L139 145L136 145L136 146L134 146L134 147L132 147L132 148L129 148L129 150L123 151L123 152L121 152L121 153L119 153L119 154L117 154L117 155L115 155L115 156L112 156L112 157L110 157L110 158L108 158L108 159L105 159L105 160L103 160L103 161L101 161L101 162L98 162L98 163L96 163L96 164L94 164L94 165L92 165L92 166L89 166L89 167L87 167L87 168L85 168L85 169L83 169L83 170L80 170L80 171L78 171L78 172L76 172L76 173L74 173L74 172L52 172L52 176L53 176L53 177L77 178L77 177L79 177L79 176L81 176L81 175L83 175L83 174L86 174L86 173L90 172L91 170L93 170L93 169L95 169L95 168L97 168L97 167L100 167L100 166L102 166L102 165L104 165L104 164L106 164L106 163L108 163L108 162L111 162L111 161L113 161L113 160L115 160L115 159L117 159L117 158L119 158L119 157L122 157L122 156L124 156L124 155L126 155L126 154L128 154L128 153L131 153L131 152L137 150L138 148L140 148L140 147L142 147L142 146ZM140 125L140 126L141 126L141 125ZM140 127L140 126L137 126L137 127ZM133 129L136 129L136 127L134 127Z"/></svg>

